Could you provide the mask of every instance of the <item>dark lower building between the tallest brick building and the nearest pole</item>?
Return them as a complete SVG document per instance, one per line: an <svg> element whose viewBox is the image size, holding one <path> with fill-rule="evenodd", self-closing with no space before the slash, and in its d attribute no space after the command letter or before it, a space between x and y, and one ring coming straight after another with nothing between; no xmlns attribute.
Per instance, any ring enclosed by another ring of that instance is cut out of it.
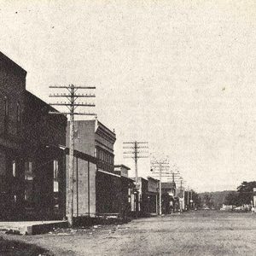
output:
<svg viewBox="0 0 256 256"><path fill-rule="evenodd" d="M65 215L66 163L60 145L66 143L67 118L49 114L55 109L25 92L24 143L25 206L37 216Z"/></svg>

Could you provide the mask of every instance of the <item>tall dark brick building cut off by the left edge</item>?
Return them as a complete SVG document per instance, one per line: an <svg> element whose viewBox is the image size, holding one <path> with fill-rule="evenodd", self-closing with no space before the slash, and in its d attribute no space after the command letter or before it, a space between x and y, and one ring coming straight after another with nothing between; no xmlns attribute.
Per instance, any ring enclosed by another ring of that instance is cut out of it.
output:
<svg viewBox="0 0 256 256"><path fill-rule="evenodd" d="M26 71L0 52L0 217L21 213Z"/></svg>

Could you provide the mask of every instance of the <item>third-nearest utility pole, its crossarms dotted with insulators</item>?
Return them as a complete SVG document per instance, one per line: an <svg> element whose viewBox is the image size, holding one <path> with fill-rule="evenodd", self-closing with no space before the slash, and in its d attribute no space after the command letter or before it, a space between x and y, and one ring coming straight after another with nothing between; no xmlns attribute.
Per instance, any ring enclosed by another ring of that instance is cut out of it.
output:
<svg viewBox="0 0 256 256"><path fill-rule="evenodd" d="M169 160L151 160L151 170L154 174L159 174L159 214L162 215L162 172L169 169Z"/></svg>

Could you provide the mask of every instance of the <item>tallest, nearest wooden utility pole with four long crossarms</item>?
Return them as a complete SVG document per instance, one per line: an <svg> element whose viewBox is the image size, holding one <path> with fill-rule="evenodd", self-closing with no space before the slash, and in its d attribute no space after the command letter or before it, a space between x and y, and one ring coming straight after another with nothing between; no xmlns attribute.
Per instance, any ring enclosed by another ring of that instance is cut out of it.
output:
<svg viewBox="0 0 256 256"><path fill-rule="evenodd" d="M54 89L66 89L68 93L53 94L49 97L54 98L67 98L68 102L55 102L50 103L51 106L65 106L68 108L67 112L49 112L53 114L69 114L70 116L70 129L69 129L69 163L68 163L68 187L67 187L67 220L70 226L73 226L73 183L74 183L74 115L93 115L95 113L75 113L75 109L79 107L95 107L94 103L84 103L79 102L79 98L92 98L96 97L95 94L77 94L77 90L94 90L94 86L76 86L74 84L69 84L67 86L49 86L49 88Z"/></svg>

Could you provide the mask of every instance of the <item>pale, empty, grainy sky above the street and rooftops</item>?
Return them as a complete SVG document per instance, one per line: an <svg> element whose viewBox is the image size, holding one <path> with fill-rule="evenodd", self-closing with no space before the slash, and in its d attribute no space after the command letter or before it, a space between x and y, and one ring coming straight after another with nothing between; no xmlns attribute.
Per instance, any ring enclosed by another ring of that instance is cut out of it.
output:
<svg viewBox="0 0 256 256"><path fill-rule="evenodd" d="M3 1L0 51L49 85L96 86L98 119L168 154L189 187L256 180L255 1ZM148 176L148 160L139 175Z"/></svg>

